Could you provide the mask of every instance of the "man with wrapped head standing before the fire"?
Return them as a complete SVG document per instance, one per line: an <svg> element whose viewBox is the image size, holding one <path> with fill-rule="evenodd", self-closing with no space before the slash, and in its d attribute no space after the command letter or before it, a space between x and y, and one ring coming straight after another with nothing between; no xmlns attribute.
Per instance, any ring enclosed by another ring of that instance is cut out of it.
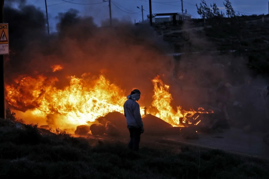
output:
<svg viewBox="0 0 269 179"><path fill-rule="evenodd" d="M130 133L129 149L139 151L140 135L144 132L143 122L140 114L140 106L136 102L140 99L140 91L135 89L127 96L124 103L124 116Z"/></svg>

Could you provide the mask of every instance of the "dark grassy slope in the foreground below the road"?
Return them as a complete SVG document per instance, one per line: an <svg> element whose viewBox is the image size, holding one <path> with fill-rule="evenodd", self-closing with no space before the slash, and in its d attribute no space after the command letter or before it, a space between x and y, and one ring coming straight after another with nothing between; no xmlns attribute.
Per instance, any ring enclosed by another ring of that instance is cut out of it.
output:
<svg viewBox="0 0 269 179"><path fill-rule="evenodd" d="M0 178L268 178L269 163L218 150L169 151L73 138L63 131L41 135L0 121Z"/></svg>

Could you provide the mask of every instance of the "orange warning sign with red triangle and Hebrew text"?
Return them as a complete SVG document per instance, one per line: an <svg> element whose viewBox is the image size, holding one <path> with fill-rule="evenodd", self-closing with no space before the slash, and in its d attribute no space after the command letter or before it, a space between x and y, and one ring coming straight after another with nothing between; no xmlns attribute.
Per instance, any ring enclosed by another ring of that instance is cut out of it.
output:
<svg viewBox="0 0 269 179"><path fill-rule="evenodd" d="M0 24L0 55L9 54L8 23Z"/></svg>

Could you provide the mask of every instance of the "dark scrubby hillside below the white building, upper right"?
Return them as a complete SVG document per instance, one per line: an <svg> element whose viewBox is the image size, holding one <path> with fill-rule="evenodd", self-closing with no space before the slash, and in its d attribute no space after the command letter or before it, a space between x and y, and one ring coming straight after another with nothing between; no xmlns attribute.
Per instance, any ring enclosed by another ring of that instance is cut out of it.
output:
<svg viewBox="0 0 269 179"><path fill-rule="evenodd" d="M244 57L254 75L269 73L269 15L239 16L234 19L192 19L154 24L158 35L175 53L212 52Z"/></svg>

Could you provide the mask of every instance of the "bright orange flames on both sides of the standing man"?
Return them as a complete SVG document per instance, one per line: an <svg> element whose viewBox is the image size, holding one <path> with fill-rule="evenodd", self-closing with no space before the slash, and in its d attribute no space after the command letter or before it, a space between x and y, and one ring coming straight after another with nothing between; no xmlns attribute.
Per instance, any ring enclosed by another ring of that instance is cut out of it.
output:
<svg viewBox="0 0 269 179"><path fill-rule="evenodd" d="M5 86L6 100L20 111L30 110L33 116L45 119L48 114L55 115L55 126L62 128L87 124L113 111L123 113L123 104L126 101L124 91L102 75L95 80L89 80L87 74L83 74L81 78L71 76L70 85L63 89L55 87L57 81L56 77L47 78L43 75L36 78L19 77L15 84ZM169 86L159 76L152 83L152 106L158 110L153 115L177 126L180 117L187 113L196 113L181 110L180 106L174 110L170 105L172 96ZM140 106L141 114L143 111L144 107Z"/></svg>

